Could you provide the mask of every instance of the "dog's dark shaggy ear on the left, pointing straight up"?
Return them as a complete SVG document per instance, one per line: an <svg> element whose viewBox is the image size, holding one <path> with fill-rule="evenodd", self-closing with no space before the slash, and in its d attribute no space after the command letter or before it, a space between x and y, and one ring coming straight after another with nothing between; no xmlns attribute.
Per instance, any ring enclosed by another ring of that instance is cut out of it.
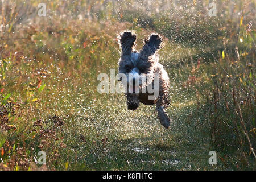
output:
<svg viewBox="0 0 256 182"><path fill-rule="evenodd" d="M122 48L123 55L128 55L131 53L131 51L133 51L136 38L137 35L130 31L121 32L121 34L119 34L118 42Z"/></svg>

